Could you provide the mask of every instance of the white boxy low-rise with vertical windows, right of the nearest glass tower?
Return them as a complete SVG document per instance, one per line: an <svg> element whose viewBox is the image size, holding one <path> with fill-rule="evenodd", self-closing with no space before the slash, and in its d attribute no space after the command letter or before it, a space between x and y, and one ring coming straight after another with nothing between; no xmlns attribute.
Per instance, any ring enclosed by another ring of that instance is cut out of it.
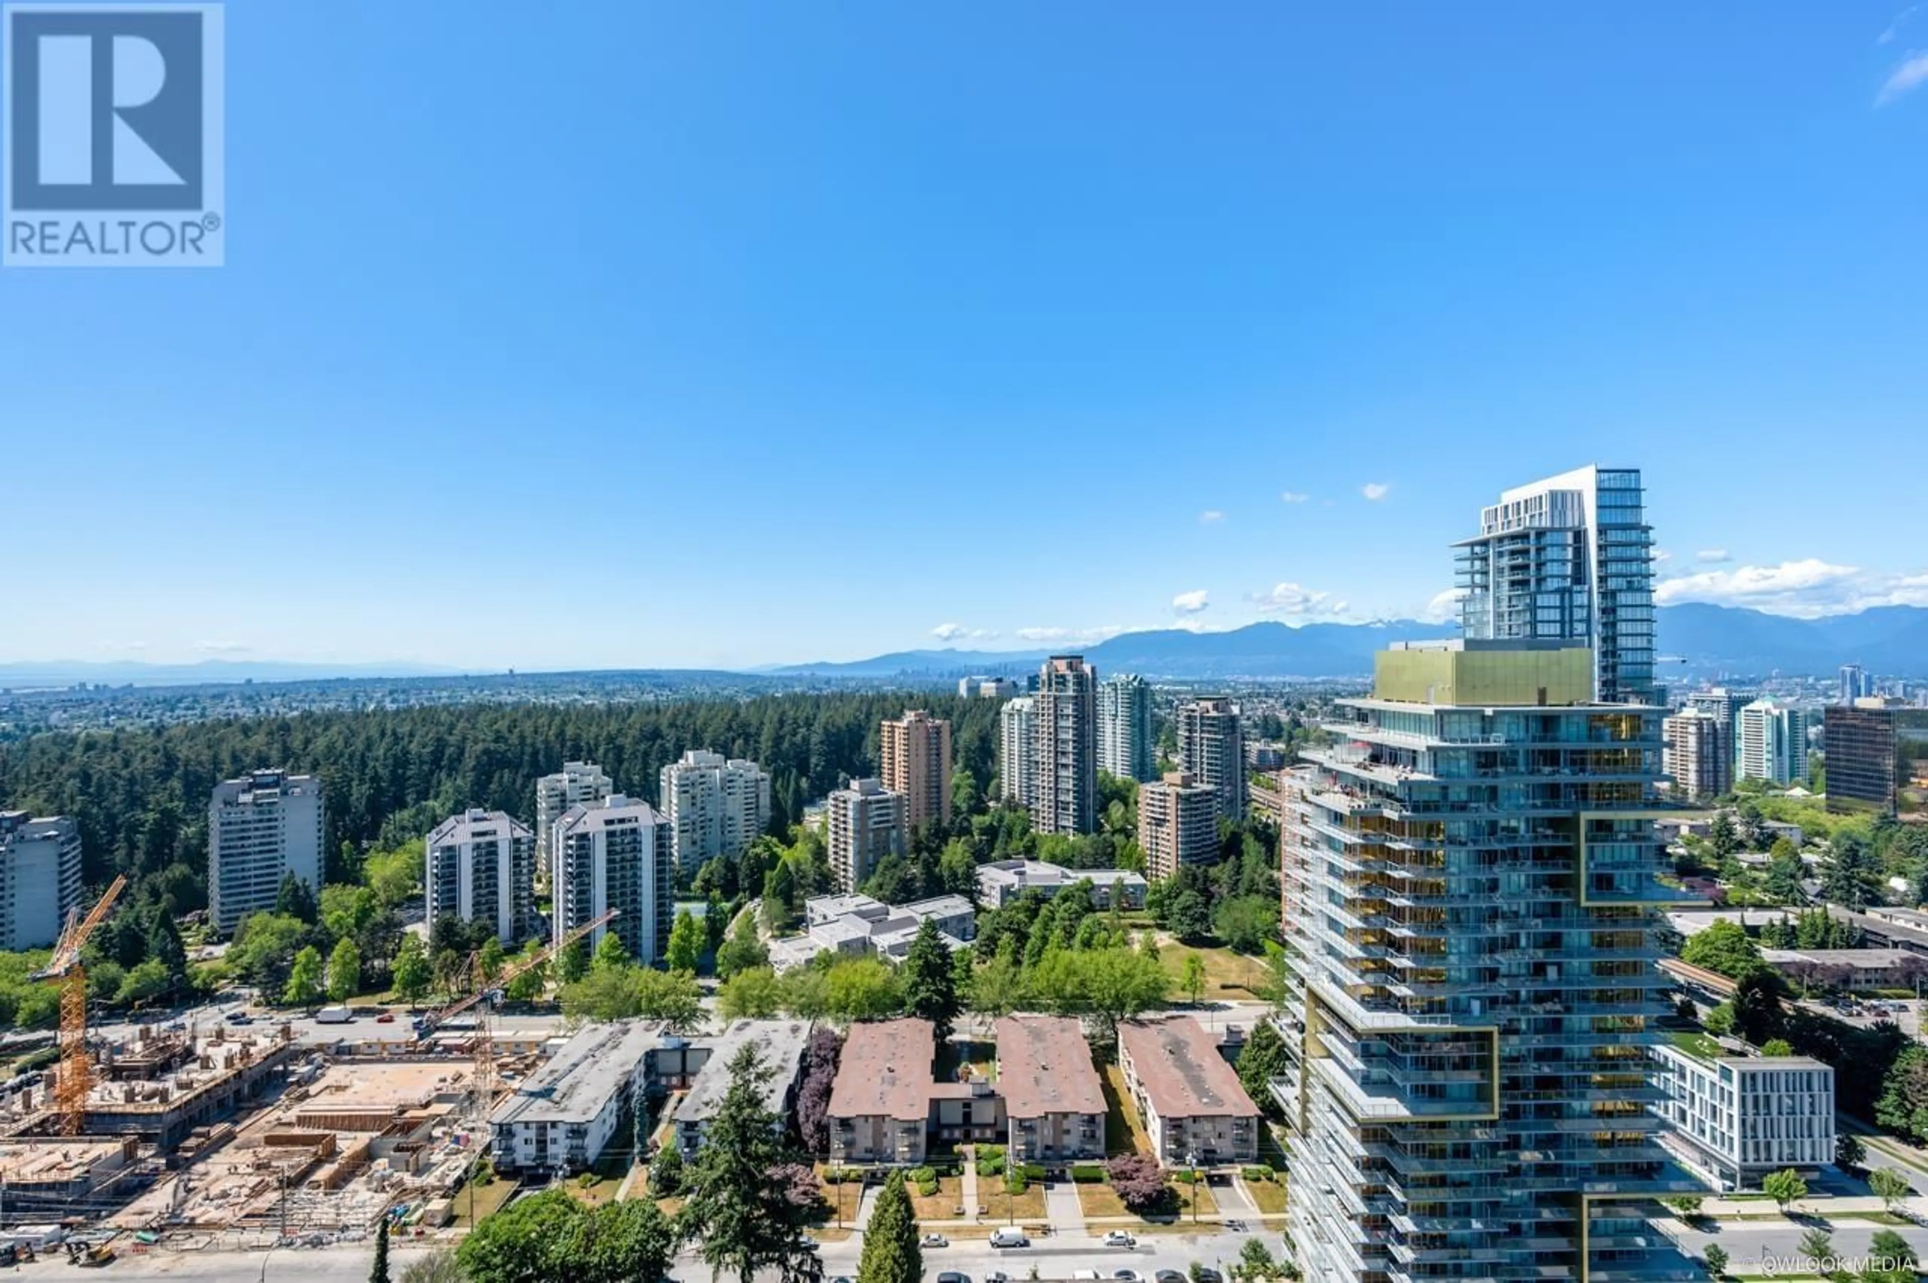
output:
<svg viewBox="0 0 1928 1283"><path fill-rule="evenodd" d="M1807 1056L1708 1056L1654 1048L1662 1117L1681 1160L1722 1191L1783 1167L1834 1162L1834 1069Z"/></svg>

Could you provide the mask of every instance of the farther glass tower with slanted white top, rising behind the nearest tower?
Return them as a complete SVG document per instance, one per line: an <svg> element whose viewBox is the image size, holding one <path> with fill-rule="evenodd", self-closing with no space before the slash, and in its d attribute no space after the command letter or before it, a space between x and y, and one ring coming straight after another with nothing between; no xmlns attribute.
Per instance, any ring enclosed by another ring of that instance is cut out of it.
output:
<svg viewBox="0 0 1928 1283"><path fill-rule="evenodd" d="M1517 485L1459 549L1473 640L1575 642L1600 703L1656 703L1654 532L1639 468L1585 466Z"/></svg>

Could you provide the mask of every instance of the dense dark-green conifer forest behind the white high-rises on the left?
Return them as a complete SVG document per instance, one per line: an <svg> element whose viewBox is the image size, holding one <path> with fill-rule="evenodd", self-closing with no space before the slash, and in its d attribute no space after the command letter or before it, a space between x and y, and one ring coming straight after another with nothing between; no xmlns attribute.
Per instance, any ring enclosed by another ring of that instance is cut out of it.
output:
<svg viewBox="0 0 1928 1283"><path fill-rule="evenodd" d="M565 759L598 761L617 788L656 801L657 771L684 749L748 757L769 771L773 826L787 828L844 776L875 772L877 722L906 707L949 717L958 767L989 784L997 701L837 694L374 709L40 734L0 746L0 805L75 817L91 886L127 873L137 900L166 900L181 913L206 903L208 794L253 767L322 776L328 880L351 882L368 846L399 846L463 807L532 821L536 778Z"/></svg>

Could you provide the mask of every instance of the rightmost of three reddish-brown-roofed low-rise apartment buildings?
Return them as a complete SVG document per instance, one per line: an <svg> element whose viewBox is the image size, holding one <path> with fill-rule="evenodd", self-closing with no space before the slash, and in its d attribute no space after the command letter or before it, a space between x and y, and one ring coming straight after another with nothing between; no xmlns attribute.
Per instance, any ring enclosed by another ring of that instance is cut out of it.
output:
<svg viewBox="0 0 1928 1283"><path fill-rule="evenodd" d="M1259 1106L1190 1015L1120 1023L1118 1069L1163 1165L1259 1162Z"/></svg>

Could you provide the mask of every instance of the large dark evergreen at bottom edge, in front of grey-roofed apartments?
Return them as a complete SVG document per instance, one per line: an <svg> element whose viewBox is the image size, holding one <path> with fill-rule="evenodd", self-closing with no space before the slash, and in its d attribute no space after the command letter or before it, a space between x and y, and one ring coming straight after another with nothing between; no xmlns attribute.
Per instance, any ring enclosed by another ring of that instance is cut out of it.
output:
<svg viewBox="0 0 1928 1283"><path fill-rule="evenodd" d="M702 1241L711 1273L729 1270L754 1283L760 1270L777 1270L785 1283L814 1281L821 1262L804 1246L812 1208L779 1179L790 1156L783 1119L763 1106L769 1077L754 1046L731 1058L729 1088L684 1179L694 1192L683 1204L681 1227Z"/></svg>

